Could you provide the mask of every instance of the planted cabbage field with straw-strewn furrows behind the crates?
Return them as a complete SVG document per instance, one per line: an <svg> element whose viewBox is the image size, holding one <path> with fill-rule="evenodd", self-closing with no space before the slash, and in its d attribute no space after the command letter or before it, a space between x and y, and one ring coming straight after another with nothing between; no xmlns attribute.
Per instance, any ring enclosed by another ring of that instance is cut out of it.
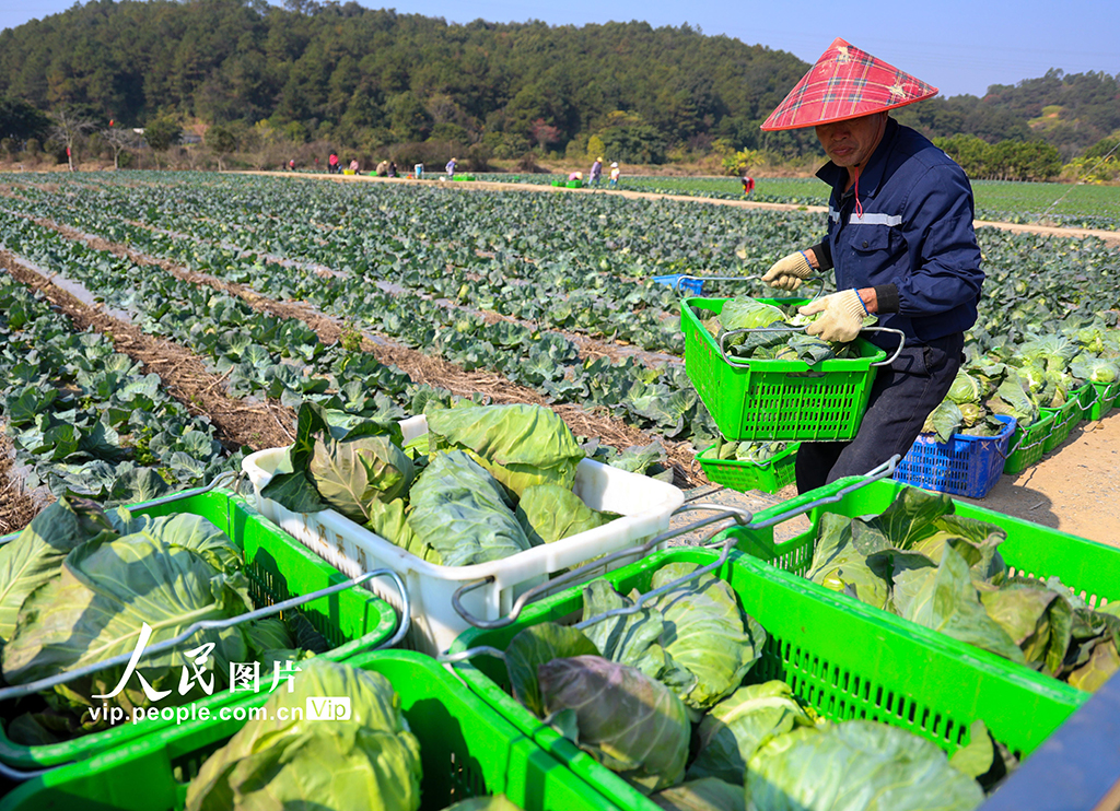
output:
<svg viewBox="0 0 1120 811"><path fill-rule="evenodd" d="M741 275L704 294L762 294L757 276L823 230L804 211L457 183L131 172L9 176L0 192L8 453L29 490L123 501L281 444L305 400L400 417L452 394L548 404L596 458L700 483L692 456L717 432L678 295L652 276ZM1072 385L1075 356L1113 353L1120 252L979 239L970 359L1028 345L1049 377L1019 377L1053 405L1043 388ZM84 321L29 286L44 277ZM153 374L169 352L183 362Z"/></svg>

